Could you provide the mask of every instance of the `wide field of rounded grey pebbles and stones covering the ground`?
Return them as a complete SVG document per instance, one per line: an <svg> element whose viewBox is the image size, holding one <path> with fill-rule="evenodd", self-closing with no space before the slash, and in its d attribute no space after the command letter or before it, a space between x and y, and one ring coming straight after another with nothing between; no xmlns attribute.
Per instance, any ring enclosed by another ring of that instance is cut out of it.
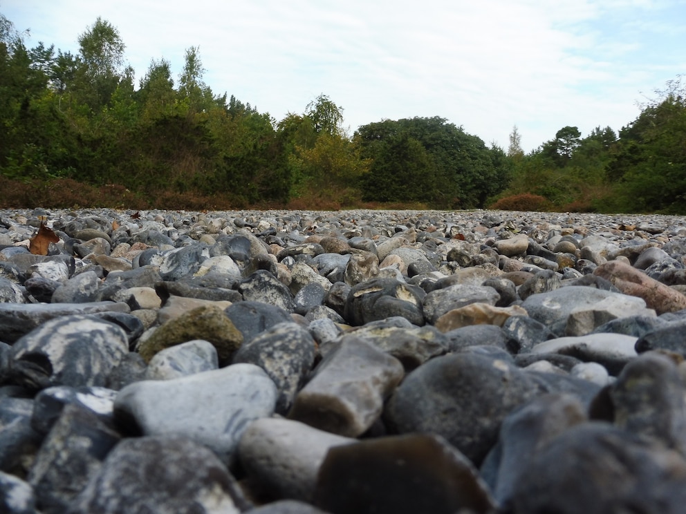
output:
<svg viewBox="0 0 686 514"><path fill-rule="evenodd" d="M0 512L683 513L685 294L676 216L0 210Z"/></svg>

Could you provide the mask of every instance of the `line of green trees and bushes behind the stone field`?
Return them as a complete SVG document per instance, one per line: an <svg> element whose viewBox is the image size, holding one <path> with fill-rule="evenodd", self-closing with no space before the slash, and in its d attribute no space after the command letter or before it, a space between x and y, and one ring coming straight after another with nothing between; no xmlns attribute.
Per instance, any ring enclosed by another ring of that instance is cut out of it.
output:
<svg viewBox="0 0 686 514"><path fill-rule="evenodd" d="M0 14L0 207L37 198L71 207L78 195L68 191L99 187L103 196L82 201L473 209L526 198L531 209L686 213L680 79L619 134L599 127L582 137L566 126L525 154L517 127L503 150L442 117L381 120L351 135L324 94L275 120L214 93L193 46L178 77L151 59L134 84L118 30L100 18L78 44L76 54L27 48ZM62 197L40 196L57 184Z"/></svg>

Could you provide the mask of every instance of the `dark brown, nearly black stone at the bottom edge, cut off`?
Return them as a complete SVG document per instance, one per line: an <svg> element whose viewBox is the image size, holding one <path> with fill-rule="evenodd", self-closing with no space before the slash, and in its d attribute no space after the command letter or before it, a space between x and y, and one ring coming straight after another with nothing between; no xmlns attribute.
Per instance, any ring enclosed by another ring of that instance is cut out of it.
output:
<svg viewBox="0 0 686 514"><path fill-rule="evenodd" d="M334 514L488 514L495 508L472 463L443 437L423 434L331 448L314 503Z"/></svg>

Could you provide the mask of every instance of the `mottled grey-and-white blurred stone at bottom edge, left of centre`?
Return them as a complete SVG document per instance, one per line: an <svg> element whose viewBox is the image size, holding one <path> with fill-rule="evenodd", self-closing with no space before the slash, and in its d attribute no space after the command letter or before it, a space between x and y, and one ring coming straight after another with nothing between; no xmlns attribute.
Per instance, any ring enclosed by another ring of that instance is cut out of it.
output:
<svg viewBox="0 0 686 514"><path fill-rule="evenodd" d="M210 450L167 435L121 441L68 514L237 514L246 508L235 479Z"/></svg>

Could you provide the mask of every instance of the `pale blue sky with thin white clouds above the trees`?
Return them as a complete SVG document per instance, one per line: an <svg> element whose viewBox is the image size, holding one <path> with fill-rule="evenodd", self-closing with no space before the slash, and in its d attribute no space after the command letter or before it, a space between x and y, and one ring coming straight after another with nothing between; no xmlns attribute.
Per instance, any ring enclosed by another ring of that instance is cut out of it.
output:
<svg viewBox="0 0 686 514"><path fill-rule="evenodd" d="M525 151L564 126L618 131L686 74L686 0L0 0L24 35L77 54L101 17L136 84L151 61L174 78L197 47L203 82L276 121L324 94L349 133L443 117Z"/></svg>

